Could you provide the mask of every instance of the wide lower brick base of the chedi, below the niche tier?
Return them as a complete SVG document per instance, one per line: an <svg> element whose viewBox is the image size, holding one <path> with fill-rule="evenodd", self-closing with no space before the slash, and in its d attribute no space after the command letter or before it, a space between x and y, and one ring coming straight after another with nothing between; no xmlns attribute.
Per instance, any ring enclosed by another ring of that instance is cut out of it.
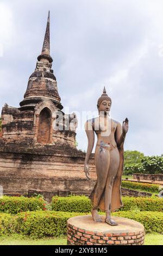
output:
<svg viewBox="0 0 163 256"><path fill-rule="evenodd" d="M93 158L90 183L84 173L84 153L49 148L30 149L30 154L22 153L20 147L10 148L11 152L1 149L0 184L5 194L30 196L36 192L47 200L56 194L90 194L96 178Z"/></svg>

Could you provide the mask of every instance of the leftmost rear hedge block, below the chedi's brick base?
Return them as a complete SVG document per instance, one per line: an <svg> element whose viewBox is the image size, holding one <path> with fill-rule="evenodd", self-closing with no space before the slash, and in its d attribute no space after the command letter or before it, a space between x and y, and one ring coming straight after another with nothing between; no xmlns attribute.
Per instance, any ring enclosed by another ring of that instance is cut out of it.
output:
<svg viewBox="0 0 163 256"><path fill-rule="evenodd" d="M0 212L17 214L22 211L45 210L45 201L42 198L27 197L0 197Z"/></svg>

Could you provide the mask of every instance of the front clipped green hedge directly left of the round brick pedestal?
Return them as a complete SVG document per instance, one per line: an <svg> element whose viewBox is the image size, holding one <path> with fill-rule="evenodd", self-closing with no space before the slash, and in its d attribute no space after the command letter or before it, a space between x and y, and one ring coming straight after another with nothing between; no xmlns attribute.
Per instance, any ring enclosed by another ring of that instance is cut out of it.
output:
<svg viewBox="0 0 163 256"><path fill-rule="evenodd" d="M33 239L45 236L66 235L68 218L81 214L71 212L31 211L15 216L15 233Z"/></svg>

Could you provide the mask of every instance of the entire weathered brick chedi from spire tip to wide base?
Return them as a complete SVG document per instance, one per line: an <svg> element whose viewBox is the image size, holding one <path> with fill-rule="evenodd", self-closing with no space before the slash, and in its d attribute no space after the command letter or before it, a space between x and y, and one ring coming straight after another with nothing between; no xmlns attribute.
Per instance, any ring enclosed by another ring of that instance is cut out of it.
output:
<svg viewBox="0 0 163 256"><path fill-rule="evenodd" d="M62 112L50 55L49 14L42 52L20 107L2 108L0 185L4 194L89 194L85 153L76 148L76 114ZM93 157L91 177L95 178Z"/></svg>

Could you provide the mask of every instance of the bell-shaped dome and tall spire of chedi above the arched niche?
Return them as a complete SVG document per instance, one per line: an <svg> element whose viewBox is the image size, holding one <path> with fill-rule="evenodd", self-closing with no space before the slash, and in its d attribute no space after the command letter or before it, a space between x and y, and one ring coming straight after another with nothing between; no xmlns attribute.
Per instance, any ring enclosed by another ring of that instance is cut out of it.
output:
<svg viewBox="0 0 163 256"><path fill-rule="evenodd" d="M20 106L23 108L34 107L37 102L46 97L46 99L54 101L59 109L62 109L57 80L52 69L53 59L50 56L49 13L42 52L37 59L35 71L29 77L24 100L20 102Z"/></svg>

